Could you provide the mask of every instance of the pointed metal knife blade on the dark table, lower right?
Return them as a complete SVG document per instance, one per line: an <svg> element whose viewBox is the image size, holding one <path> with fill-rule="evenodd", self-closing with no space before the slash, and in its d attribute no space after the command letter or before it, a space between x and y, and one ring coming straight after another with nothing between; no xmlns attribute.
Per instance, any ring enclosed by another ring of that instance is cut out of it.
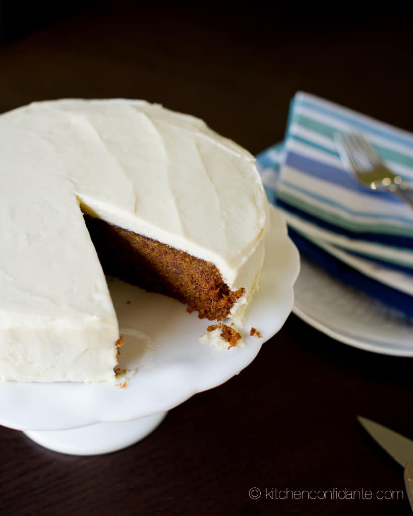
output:
<svg viewBox="0 0 413 516"><path fill-rule="evenodd" d="M366 417L358 416L357 421L401 466L413 460L413 441Z"/></svg>

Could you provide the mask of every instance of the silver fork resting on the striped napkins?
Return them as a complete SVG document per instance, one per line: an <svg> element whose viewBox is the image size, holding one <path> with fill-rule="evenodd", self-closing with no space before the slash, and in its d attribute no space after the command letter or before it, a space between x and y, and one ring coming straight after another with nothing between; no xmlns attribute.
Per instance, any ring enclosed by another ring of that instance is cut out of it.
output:
<svg viewBox="0 0 413 516"><path fill-rule="evenodd" d="M335 133L341 161L353 179L372 190L395 193L413 208L413 190L400 176L389 170L371 144L358 133Z"/></svg>

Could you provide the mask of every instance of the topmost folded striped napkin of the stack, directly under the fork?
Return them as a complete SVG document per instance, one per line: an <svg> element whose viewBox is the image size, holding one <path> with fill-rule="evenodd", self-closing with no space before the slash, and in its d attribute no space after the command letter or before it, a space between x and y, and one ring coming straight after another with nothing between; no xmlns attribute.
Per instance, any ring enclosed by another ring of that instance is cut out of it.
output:
<svg viewBox="0 0 413 516"><path fill-rule="evenodd" d="M258 156L269 199L277 196L297 231L413 269L413 211L394 194L363 188L348 175L333 141L340 131L362 132L395 173L413 182L413 135L297 93L282 148L277 145ZM274 159L271 165L275 156L280 165Z"/></svg>

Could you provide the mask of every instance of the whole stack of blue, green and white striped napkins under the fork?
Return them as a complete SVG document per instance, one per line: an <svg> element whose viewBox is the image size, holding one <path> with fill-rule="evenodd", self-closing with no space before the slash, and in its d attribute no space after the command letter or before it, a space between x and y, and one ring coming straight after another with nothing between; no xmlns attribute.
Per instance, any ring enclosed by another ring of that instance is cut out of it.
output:
<svg viewBox="0 0 413 516"><path fill-rule="evenodd" d="M413 135L299 92L284 142L257 156L268 199L283 209L302 252L335 275L347 267L346 282L413 316L413 211L348 175L333 134L350 131L413 182Z"/></svg>

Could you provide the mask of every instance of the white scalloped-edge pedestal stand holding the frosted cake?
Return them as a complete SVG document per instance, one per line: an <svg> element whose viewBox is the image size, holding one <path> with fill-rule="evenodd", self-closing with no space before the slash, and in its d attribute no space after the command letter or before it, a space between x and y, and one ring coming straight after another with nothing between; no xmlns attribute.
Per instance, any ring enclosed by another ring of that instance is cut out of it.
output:
<svg viewBox="0 0 413 516"><path fill-rule="evenodd" d="M271 208L271 230L259 292L247 312L244 347L218 350L199 342L208 321L184 305L109 279L125 345L121 367L137 368L125 388L105 383L0 383L0 424L23 430L61 453L97 455L146 437L167 411L224 383L257 356L284 324L294 302L298 252L282 215Z"/></svg>

